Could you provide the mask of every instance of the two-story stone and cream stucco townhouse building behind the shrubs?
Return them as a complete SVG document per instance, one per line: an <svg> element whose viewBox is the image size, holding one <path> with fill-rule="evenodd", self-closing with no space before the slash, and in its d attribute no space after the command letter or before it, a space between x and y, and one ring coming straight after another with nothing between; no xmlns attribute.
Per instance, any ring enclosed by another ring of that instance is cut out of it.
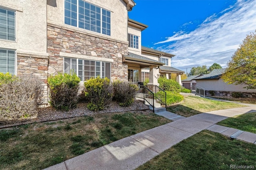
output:
<svg viewBox="0 0 256 170"><path fill-rule="evenodd" d="M172 54L141 46L147 26L128 18L133 0L1 0L0 72L42 79L73 70L90 77L133 81L183 71ZM166 66L163 66L166 65ZM147 68L147 69L145 69ZM168 76L167 76L168 77Z"/></svg>

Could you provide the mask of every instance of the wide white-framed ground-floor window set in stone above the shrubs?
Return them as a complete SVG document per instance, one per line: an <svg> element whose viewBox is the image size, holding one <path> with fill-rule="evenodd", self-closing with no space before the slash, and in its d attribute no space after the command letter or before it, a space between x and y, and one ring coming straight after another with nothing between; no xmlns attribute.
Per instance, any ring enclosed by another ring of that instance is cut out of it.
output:
<svg viewBox="0 0 256 170"><path fill-rule="evenodd" d="M110 79L110 68L110 63L104 61L64 58L64 73L75 73L81 81L98 76Z"/></svg>

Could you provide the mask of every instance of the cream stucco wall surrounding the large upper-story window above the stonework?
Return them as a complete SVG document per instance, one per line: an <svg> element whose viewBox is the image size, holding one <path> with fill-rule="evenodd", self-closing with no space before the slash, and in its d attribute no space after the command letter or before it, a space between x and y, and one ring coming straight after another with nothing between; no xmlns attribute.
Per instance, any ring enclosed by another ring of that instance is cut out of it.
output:
<svg viewBox="0 0 256 170"><path fill-rule="evenodd" d="M50 24L64 26L71 29L80 30L97 36L112 38L120 41L127 41L127 21L128 14L126 3L121 0L86 0L90 4L99 6L111 12L111 36L92 32L82 28L64 24L64 0L56 0L56 3L47 5L47 20Z"/></svg>

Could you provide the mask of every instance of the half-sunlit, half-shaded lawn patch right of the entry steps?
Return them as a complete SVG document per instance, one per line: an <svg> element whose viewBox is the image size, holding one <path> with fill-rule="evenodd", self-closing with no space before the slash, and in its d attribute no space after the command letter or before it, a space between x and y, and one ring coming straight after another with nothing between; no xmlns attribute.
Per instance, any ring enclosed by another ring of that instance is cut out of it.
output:
<svg viewBox="0 0 256 170"><path fill-rule="evenodd" d="M200 113L216 111L221 109L230 109L235 107L245 106L236 103L204 99L202 97L185 96L182 102L168 107L167 111L176 113L184 117L190 117Z"/></svg>

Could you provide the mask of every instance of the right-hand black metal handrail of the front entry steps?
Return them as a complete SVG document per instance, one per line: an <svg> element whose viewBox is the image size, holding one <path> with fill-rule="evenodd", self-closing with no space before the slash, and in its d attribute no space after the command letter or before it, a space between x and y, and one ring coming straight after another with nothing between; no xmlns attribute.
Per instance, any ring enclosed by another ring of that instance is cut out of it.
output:
<svg viewBox="0 0 256 170"><path fill-rule="evenodd" d="M156 97L156 102L165 105L166 108L166 92L158 87L157 85L146 85L148 89L154 92L155 97Z"/></svg>

